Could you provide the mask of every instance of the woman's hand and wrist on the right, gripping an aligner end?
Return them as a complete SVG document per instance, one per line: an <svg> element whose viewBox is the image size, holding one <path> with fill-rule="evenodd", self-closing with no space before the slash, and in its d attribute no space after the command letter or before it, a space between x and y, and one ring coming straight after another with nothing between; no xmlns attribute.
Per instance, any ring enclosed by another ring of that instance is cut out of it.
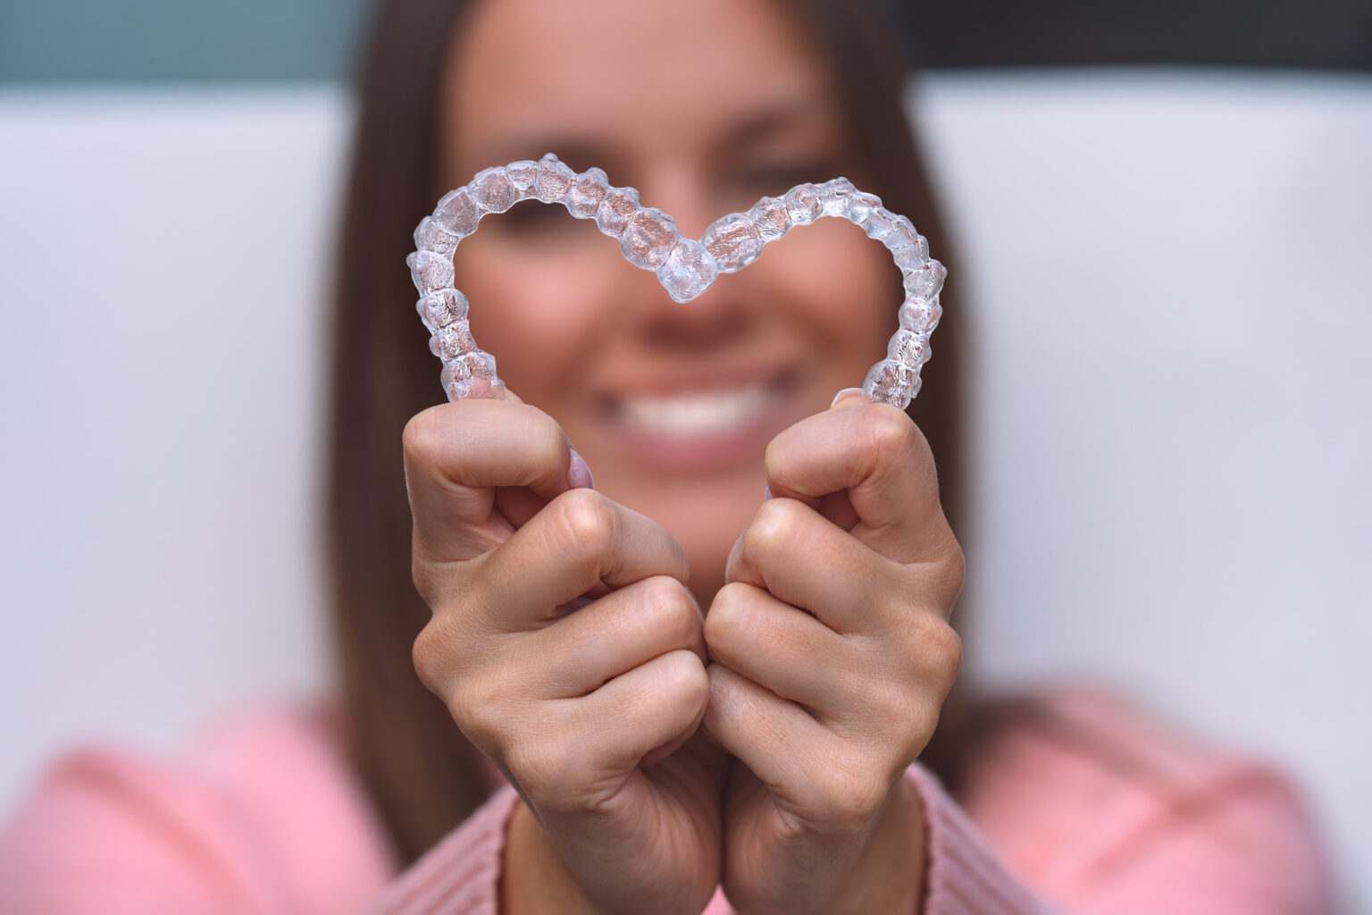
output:
<svg viewBox="0 0 1372 915"><path fill-rule="evenodd" d="M963 578L929 446L848 395L772 440L767 479L705 617L705 727L738 760L724 892L740 912L915 912L904 772L958 672Z"/></svg>

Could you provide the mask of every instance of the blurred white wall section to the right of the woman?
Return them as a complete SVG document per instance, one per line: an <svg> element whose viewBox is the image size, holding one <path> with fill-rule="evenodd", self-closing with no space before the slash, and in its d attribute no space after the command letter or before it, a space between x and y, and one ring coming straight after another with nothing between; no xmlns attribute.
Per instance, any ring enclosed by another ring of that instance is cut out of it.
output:
<svg viewBox="0 0 1372 915"><path fill-rule="evenodd" d="M974 296L970 672L1283 763L1372 910L1372 80L919 102Z"/></svg>

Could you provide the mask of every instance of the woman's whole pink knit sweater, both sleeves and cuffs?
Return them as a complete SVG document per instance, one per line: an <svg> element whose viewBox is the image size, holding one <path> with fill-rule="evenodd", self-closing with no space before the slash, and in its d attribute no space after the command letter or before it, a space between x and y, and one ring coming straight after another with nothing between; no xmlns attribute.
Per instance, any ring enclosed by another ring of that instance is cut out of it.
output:
<svg viewBox="0 0 1372 915"><path fill-rule="evenodd" d="M1280 776L1099 698L1056 705L1102 739L1008 731L971 772L962 808L911 767L929 823L926 915L1332 911L1310 826ZM317 719L257 712L174 764L110 750L60 760L0 834L0 912L494 915L516 803L501 789L397 872ZM729 911L722 894L707 910Z"/></svg>

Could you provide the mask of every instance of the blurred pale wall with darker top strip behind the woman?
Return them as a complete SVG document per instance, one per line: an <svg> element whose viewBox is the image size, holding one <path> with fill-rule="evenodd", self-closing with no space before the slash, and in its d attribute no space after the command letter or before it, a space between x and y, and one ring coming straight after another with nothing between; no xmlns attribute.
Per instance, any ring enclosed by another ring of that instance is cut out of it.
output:
<svg viewBox="0 0 1372 915"><path fill-rule="evenodd" d="M1372 3L900 10L971 324L966 675L1284 767L1372 911ZM328 689L365 16L0 0L0 816L74 741Z"/></svg>

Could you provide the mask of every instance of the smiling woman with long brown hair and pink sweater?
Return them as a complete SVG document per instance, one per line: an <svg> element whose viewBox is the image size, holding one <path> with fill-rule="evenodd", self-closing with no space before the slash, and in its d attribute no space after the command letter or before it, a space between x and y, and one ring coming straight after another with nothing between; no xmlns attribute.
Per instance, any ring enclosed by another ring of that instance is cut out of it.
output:
<svg viewBox="0 0 1372 915"><path fill-rule="evenodd" d="M73 892L130 911L1324 911L1262 770L1091 700L995 728L945 701L962 554L933 455L948 505L956 309L911 417L830 409L900 295L852 226L797 229L679 306L593 226L519 204L456 255L519 396L425 409L436 364L399 265L417 218L488 165L602 166L687 236L847 174L945 252L870 10L460 7L387 4L364 81L335 317L339 726L248 719L176 771L69 760L12 829L0 893L18 911L71 911Z"/></svg>

